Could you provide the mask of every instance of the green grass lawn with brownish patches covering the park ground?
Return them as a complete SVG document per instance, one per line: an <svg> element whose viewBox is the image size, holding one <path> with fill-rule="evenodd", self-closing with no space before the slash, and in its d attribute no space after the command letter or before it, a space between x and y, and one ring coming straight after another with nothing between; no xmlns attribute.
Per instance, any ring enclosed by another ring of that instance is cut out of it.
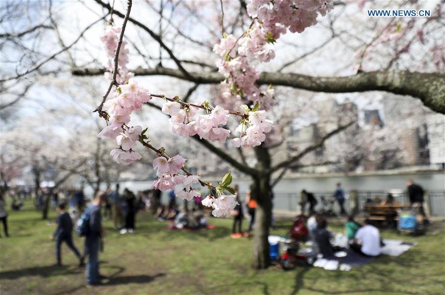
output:
<svg viewBox="0 0 445 295"><path fill-rule="evenodd" d="M55 212L50 213L51 220ZM297 266L283 271L249 267L251 241L231 239L232 221L209 220L216 227L198 232L171 231L167 223L148 213L137 216L135 234L119 235L105 221L105 250L100 271L108 284L85 287L84 268L62 246L62 267L55 263L54 226L40 219L31 203L25 210L10 212L9 234L0 240L0 294L444 294L445 232L422 237L397 236L385 231L384 238L419 244L399 257L381 256L350 272L326 271ZM246 221L244 222L246 226ZM273 234L284 234L290 221L277 224ZM341 231L340 226L332 229ZM79 250L83 240L75 237Z"/></svg>

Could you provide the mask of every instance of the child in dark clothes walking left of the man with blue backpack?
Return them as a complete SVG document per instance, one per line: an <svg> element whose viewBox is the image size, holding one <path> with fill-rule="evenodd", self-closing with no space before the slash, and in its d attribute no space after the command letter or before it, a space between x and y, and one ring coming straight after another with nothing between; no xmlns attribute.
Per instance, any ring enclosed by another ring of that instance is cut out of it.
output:
<svg viewBox="0 0 445 295"><path fill-rule="evenodd" d="M79 251L76 249L76 247L73 245L73 239L72 239L72 232L73 232L73 223L71 221L71 217L69 216L68 212L65 212L65 204L59 204L57 206L57 212L59 215L57 216L57 228L55 229L51 240L56 240L55 244L55 250L57 255L57 265L61 266L61 255L60 255L60 245L63 241L66 242L66 245L76 254L77 258L79 259L79 266L82 266L84 263L83 257L80 256Z"/></svg>

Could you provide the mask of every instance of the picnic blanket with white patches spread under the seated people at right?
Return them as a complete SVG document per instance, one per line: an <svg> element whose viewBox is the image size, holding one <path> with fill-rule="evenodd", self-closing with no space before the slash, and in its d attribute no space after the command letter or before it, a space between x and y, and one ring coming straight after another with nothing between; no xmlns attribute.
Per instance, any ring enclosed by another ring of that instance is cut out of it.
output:
<svg viewBox="0 0 445 295"><path fill-rule="evenodd" d="M409 248L416 246L417 243L403 242L401 240L383 240L385 246L381 247L382 255L400 256L406 252ZM348 271L351 267L359 267L366 263L371 262L376 257L364 256L350 249L344 249L346 251L345 257L338 257L333 259L317 259L313 266L321 267L326 270L343 270Z"/></svg>

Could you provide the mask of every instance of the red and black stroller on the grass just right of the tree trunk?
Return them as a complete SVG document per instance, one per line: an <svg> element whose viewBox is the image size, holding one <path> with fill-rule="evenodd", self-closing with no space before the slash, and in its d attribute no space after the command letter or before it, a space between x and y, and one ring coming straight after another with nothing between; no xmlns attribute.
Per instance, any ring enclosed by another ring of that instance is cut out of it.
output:
<svg viewBox="0 0 445 295"><path fill-rule="evenodd" d="M305 260L307 264L311 265L313 258L310 255L299 252L299 243L305 242L307 239L306 217L299 215L292 225L288 237L282 240L283 254L280 256L276 266L283 268L283 270L288 270L295 266L297 260Z"/></svg>

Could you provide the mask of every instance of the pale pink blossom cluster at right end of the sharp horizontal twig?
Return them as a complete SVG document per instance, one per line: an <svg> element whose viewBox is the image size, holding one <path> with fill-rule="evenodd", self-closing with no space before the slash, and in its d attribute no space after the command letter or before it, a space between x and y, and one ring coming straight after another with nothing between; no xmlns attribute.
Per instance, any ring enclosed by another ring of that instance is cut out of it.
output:
<svg viewBox="0 0 445 295"><path fill-rule="evenodd" d="M266 119L267 112L265 110L249 112L248 120L243 120L235 129L240 133L239 138L231 141L234 147L256 147L266 139L265 133L272 130L273 121Z"/></svg>

